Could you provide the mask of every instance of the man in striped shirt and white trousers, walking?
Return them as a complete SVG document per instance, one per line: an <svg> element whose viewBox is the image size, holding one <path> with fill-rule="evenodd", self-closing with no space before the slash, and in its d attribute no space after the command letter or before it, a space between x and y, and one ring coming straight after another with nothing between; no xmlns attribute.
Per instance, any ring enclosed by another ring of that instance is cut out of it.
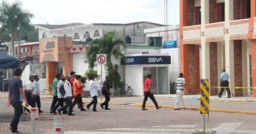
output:
<svg viewBox="0 0 256 134"><path fill-rule="evenodd" d="M176 80L176 99L174 104L174 110L180 110L179 109L179 103L181 102L181 99L183 97L183 91L185 90L185 79L183 78L183 74L180 73L179 78Z"/></svg>

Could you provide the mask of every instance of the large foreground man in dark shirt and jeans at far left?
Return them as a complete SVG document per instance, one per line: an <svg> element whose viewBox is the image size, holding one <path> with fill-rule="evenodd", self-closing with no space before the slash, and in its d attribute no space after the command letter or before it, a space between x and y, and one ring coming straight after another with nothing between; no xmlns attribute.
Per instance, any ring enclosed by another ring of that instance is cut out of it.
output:
<svg viewBox="0 0 256 134"><path fill-rule="evenodd" d="M18 122L20 116L22 115L22 101L25 101L25 106L28 107L28 101L26 99L25 93L23 91L22 80L22 69L17 68L14 71L14 77L9 80L9 96L7 106L12 105L14 108L14 117L12 118L9 129L12 133L22 133L18 131Z"/></svg>

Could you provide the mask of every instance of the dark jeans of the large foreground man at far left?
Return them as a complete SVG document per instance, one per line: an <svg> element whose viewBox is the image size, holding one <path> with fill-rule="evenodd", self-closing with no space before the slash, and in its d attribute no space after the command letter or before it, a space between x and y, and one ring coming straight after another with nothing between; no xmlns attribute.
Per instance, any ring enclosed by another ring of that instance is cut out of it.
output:
<svg viewBox="0 0 256 134"><path fill-rule="evenodd" d="M12 127L12 131L16 131L18 129L18 122L20 121L20 116L22 115L22 102L11 102L12 107L14 108L14 116L12 118L10 126Z"/></svg>

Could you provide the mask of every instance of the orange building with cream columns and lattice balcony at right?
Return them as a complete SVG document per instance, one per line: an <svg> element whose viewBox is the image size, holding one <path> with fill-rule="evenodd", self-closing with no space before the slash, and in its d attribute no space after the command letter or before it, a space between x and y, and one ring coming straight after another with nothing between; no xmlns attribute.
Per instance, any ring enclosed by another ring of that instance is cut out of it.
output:
<svg viewBox="0 0 256 134"><path fill-rule="evenodd" d="M181 72L190 93L200 93L200 78L219 86L222 69L230 86L256 86L255 7L255 0L180 0ZM231 89L231 96L249 94L256 89Z"/></svg>

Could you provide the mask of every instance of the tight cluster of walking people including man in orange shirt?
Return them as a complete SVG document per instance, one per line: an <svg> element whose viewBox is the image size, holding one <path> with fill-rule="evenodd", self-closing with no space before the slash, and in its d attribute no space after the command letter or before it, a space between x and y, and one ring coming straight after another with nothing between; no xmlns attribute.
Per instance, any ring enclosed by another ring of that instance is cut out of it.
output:
<svg viewBox="0 0 256 134"><path fill-rule="evenodd" d="M104 88L104 90L106 90L106 93L104 94L106 101L100 104L100 107L105 110L110 110L108 108L108 102L110 101L111 94L109 84L110 77L106 76L106 81L104 82L103 86L95 82L95 76L90 76L89 79L90 94L93 100L91 103L86 105L87 110L89 110L91 105L93 105L93 112L97 111L96 105L98 103L98 88ZM64 93L62 93L62 88ZM61 114L62 112L62 114L74 116L75 114L73 114L72 111L75 105L77 105L80 111L86 111L86 109L84 109L84 103L82 100L83 88L85 88L85 86L81 83L81 75L75 75L74 71L70 73L70 76L66 77L64 75L57 74L56 78L53 80L53 102L51 104L50 112L57 114L56 111L58 111L58 114ZM72 101L73 99L74 101Z"/></svg>

